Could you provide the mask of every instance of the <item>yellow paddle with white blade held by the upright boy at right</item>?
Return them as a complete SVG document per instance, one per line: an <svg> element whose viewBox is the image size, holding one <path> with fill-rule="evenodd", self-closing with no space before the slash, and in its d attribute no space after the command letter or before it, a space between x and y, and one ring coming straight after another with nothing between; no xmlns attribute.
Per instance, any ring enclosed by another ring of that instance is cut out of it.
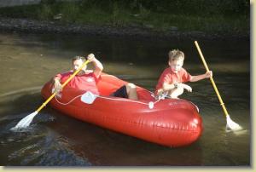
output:
<svg viewBox="0 0 256 172"><path fill-rule="evenodd" d="M208 66L207 66L207 62L206 62L206 60L205 60L203 54L201 53L201 49L200 49L200 47L199 47L197 41L195 41L195 46L196 46L196 48L197 48L197 50L198 50L198 52L199 52L199 54L200 54L200 56L201 56L201 60L202 60L202 62L203 62L203 64L204 64L204 66L205 66L207 72L209 72L209 68L208 68ZM211 80L213 89L215 90L215 93L216 93L216 95L218 96L218 100L219 100L219 102L220 102L220 105L222 106L222 108L223 108L223 110L224 110L224 114L225 114L225 116L226 116L226 120L227 120L226 129L231 129L231 130L240 130L240 129L242 129L241 126L240 126L238 123L235 123L235 122L232 121L232 119L230 118L230 115L229 115L229 113L228 113L226 107L224 106L224 102L223 102L223 100L221 99L221 96L220 96L219 93L218 93L218 89L217 89L217 86L216 86L216 84L215 84L213 78L210 77L210 80Z"/></svg>

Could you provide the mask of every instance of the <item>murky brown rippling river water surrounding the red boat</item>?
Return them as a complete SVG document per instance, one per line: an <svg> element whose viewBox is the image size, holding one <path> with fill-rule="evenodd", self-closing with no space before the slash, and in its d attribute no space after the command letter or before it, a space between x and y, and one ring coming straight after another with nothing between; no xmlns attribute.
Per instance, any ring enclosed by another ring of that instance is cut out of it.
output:
<svg viewBox="0 0 256 172"><path fill-rule="evenodd" d="M198 40L230 117L240 132L225 132L226 120L208 80L189 83L183 99L200 108L201 138L169 148L102 129L45 107L32 125L10 129L44 101L40 89L71 67L74 55L94 53L105 72L154 90L170 49L186 54L191 74L205 72L194 40L0 33L0 165L248 166L251 152L249 40Z"/></svg>

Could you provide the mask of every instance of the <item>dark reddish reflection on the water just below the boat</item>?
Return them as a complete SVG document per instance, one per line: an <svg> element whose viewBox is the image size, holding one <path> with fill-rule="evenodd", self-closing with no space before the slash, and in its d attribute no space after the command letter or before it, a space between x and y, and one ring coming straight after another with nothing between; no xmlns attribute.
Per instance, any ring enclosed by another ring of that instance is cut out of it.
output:
<svg viewBox="0 0 256 172"><path fill-rule="evenodd" d="M170 148L61 114L58 114L56 123L49 125L73 142L73 150L84 153L94 165L201 165L200 141L187 147ZM188 158L188 155L194 158Z"/></svg>

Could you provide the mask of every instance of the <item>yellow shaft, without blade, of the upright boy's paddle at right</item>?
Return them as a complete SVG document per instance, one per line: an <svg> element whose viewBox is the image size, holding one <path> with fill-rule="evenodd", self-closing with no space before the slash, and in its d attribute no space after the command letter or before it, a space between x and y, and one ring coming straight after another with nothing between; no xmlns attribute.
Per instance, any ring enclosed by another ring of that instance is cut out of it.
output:
<svg viewBox="0 0 256 172"><path fill-rule="evenodd" d="M196 48L197 48L197 50L198 50L198 53L200 54L201 60L202 60L202 62L203 62L203 64L204 64L204 66L205 66L207 72L209 72L210 70L209 70L209 68L208 68L208 66L207 66L207 62L206 62L206 60L205 60L203 54L201 53L201 49L200 49L200 47L199 47L197 41L195 41L195 46L196 46ZM225 114L225 116L228 116L229 113L228 113L226 107L224 106L224 102L223 102L221 96L220 96L219 93L218 93L218 89L217 89L217 86L216 86L216 84L215 84L213 78L210 77L210 80L211 80L213 89L215 90L215 93L216 93L216 95L218 96L218 100L219 100L219 102L220 102L220 105L221 105L222 108L223 108L224 114Z"/></svg>

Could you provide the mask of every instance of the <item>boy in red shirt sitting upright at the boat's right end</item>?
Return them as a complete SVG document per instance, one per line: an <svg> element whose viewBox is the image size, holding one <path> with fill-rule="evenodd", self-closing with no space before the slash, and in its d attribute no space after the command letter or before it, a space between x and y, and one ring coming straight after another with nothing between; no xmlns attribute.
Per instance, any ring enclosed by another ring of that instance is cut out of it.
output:
<svg viewBox="0 0 256 172"><path fill-rule="evenodd" d="M170 67L166 68L160 75L155 90L155 95L157 95L157 97L164 94L177 99L177 96L183 94L183 89L192 92L192 88L185 83L196 82L207 77L212 77L212 71L197 76L191 76L189 72L183 68L184 54L182 51L173 49L168 55L168 65Z"/></svg>

